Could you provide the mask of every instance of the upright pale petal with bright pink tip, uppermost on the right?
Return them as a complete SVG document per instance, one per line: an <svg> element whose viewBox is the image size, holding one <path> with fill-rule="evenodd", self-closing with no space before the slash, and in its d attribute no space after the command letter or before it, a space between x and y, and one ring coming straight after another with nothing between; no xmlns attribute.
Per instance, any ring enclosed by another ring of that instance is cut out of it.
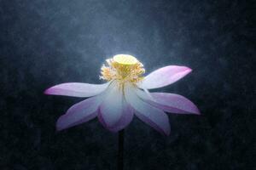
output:
<svg viewBox="0 0 256 170"><path fill-rule="evenodd" d="M162 88L173 82L177 82L192 70L186 66L169 65L151 72L144 78L143 82L138 83L139 88Z"/></svg>

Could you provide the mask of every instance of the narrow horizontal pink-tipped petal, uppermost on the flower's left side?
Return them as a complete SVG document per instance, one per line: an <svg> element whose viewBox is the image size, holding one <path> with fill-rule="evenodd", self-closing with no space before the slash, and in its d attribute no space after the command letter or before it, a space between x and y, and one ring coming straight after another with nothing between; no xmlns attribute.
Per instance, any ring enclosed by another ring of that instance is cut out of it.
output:
<svg viewBox="0 0 256 170"><path fill-rule="evenodd" d="M108 85L108 82L104 84L67 82L48 88L44 91L44 94L87 98L96 94L101 94L106 88L108 88Z"/></svg>

